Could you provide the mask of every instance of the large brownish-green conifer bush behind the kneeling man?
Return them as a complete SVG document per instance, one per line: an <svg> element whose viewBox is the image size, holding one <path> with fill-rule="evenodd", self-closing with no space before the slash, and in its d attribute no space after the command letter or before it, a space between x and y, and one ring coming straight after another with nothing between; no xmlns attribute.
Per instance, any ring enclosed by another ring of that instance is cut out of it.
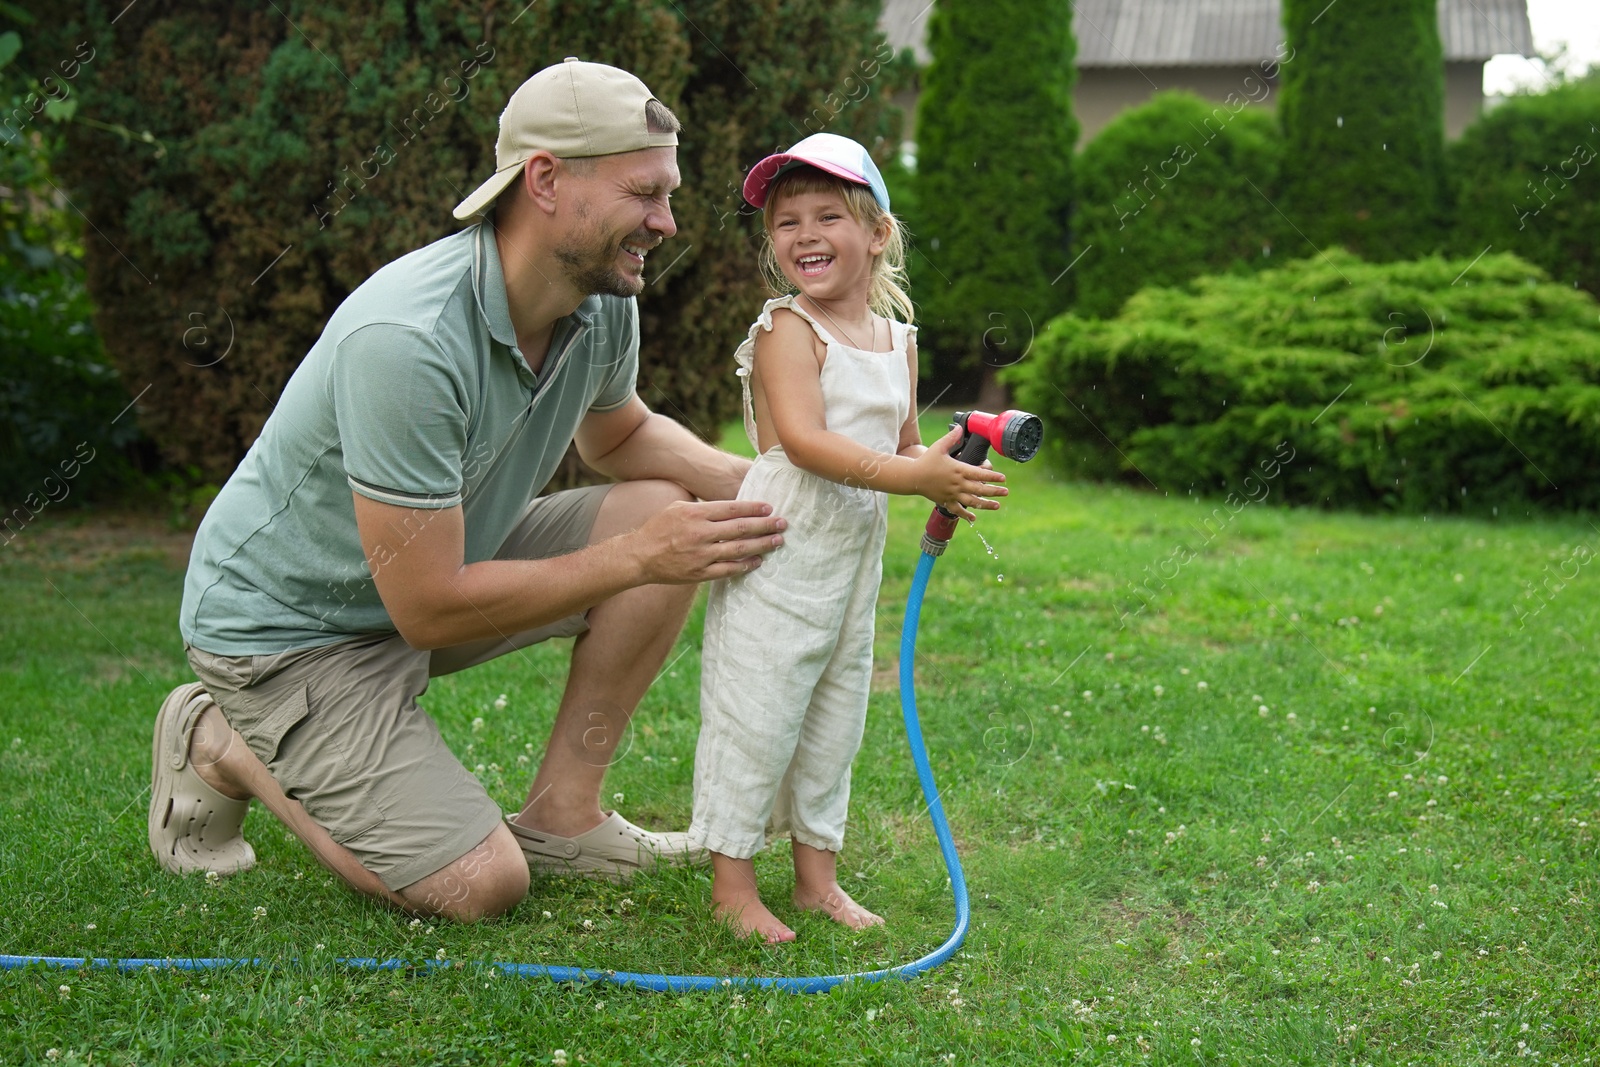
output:
<svg viewBox="0 0 1600 1067"><path fill-rule="evenodd" d="M96 122L62 160L102 237L99 323L126 381L150 384L149 432L213 478L339 301L456 229L506 99L539 67L626 67L685 123L678 235L640 301L640 394L704 434L738 406L730 354L765 294L744 168L816 115L885 154L896 134L866 0L37 6L46 51L99 53L78 78Z"/></svg>

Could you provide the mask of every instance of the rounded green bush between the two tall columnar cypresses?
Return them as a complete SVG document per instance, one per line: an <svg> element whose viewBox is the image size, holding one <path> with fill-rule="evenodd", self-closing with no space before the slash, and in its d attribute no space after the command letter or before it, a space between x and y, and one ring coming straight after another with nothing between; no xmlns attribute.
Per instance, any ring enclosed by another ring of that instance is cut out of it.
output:
<svg viewBox="0 0 1600 1067"><path fill-rule="evenodd" d="M1147 285L1264 264L1278 155L1277 122L1243 93L1157 93L1122 112L1078 155L1075 310L1114 315Z"/></svg>

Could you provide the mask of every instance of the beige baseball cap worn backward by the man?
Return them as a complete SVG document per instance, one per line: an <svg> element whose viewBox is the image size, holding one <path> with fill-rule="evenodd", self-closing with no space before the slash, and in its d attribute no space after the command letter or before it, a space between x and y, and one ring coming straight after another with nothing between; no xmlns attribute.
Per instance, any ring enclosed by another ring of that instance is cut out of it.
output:
<svg viewBox="0 0 1600 1067"><path fill-rule="evenodd" d="M651 133L645 104L656 99L627 70L568 56L523 82L501 112L494 176L456 205L458 219L483 214L528 157L544 149L562 158L670 147L675 133Z"/></svg>

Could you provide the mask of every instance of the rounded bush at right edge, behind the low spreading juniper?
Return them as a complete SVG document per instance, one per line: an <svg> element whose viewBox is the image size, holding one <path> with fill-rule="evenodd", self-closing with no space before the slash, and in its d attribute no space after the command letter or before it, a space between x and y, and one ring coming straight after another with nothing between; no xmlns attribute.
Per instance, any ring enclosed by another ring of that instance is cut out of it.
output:
<svg viewBox="0 0 1600 1067"><path fill-rule="evenodd" d="M1514 251L1600 294L1600 74L1514 96L1450 146L1456 251Z"/></svg>

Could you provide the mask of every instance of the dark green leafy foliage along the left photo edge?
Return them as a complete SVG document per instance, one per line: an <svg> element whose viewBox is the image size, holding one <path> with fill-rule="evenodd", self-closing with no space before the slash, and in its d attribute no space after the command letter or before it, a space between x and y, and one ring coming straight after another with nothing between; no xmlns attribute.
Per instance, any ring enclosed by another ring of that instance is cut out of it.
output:
<svg viewBox="0 0 1600 1067"><path fill-rule="evenodd" d="M90 322L82 221L51 174L77 99L70 78L37 80L24 74L32 66L24 38L0 34L0 502L10 534L45 507L123 482L139 437L131 414L117 418L130 397Z"/></svg>

